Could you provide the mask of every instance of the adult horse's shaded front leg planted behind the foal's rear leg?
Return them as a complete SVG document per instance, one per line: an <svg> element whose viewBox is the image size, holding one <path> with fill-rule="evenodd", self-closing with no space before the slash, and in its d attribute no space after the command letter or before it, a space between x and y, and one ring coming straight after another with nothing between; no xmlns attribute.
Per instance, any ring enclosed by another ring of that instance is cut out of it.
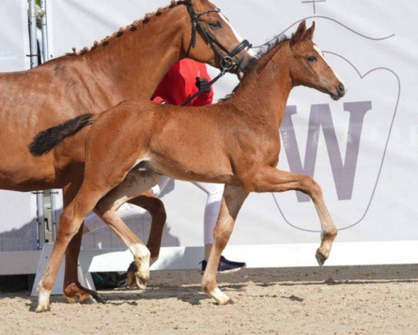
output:
<svg viewBox="0 0 418 335"><path fill-rule="evenodd" d="M64 208L70 204L72 199L79 190L79 184L70 184L63 189L63 205ZM78 258L79 251L82 245L82 230L80 227L77 234L72 237L70 244L68 244L67 251L65 251L65 276L63 285L63 294L68 302L74 303L77 301L83 302L86 299L93 297L95 301L103 302L103 299L98 295L98 292L84 288L78 281Z"/></svg>

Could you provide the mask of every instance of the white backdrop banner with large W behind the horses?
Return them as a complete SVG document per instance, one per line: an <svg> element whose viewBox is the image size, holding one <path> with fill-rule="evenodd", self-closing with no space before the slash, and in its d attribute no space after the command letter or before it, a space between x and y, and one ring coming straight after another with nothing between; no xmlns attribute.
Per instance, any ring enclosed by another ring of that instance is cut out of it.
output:
<svg viewBox="0 0 418 335"><path fill-rule="evenodd" d="M82 49L119 27L167 5L167 0L48 1L50 53ZM218 0L240 34L258 45L292 34L304 19L316 21L316 44L348 86L334 102L307 88L291 94L279 168L311 174L339 228L337 241L418 240L418 16L415 1ZM138 59L141 61L141 59ZM212 75L217 72L211 70ZM236 79L224 77L217 98ZM203 244L206 195L175 181L164 195L168 221L165 246ZM148 219L136 230L144 238ZM314 205L295 193L251 194L231 244L304 244L319 241ZM98 232L85 246L121 246Z"/></svg>

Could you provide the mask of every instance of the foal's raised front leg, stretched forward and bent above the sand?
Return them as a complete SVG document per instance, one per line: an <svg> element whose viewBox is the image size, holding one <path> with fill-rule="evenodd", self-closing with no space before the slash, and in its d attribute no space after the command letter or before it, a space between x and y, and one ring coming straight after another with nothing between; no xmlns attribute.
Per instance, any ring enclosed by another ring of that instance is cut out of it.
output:
<svg viewBox="0 0 418 335"><path fill-rule="evenodd" d="M320 219L322 229L320 247L316 251L316 260L322 267L330 255L332 242L337 230L330 213L325 206L323 193L316 181L310 176L277 170L272 167L263 168L254 179L256 192L284 192L289 190L301 191L311 197Z"/></svg>

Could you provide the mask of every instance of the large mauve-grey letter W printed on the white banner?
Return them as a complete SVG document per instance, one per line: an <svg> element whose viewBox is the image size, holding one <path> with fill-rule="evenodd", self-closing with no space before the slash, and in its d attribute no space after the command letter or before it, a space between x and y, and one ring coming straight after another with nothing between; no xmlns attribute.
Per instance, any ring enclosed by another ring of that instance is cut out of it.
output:
<svg viewBox="0 0 418 335"><path fill-rule="evenodd" d="M371 110L371 101L344 103L343 106L344 111L350 113L347 136L348 141L346 144L346 157L344 158L344 162L341 157L339 143L336 139L330 105L311 105L307 149L305 151L303 165L292 121L292 115L297 113L296 106L288 106L286 108L286 114L280 130L291 171L309 174L313 177L316 156L318 154L319 132L320 128L322 128L325 143L327 145L328 156L330 157L338 199L350 200L353 194L355 170L357 168L357 158L359 156L359 144L362 135L364 115ZM307 202L310 199L301 192L297 192L296 195L299 202Z"/></svg>

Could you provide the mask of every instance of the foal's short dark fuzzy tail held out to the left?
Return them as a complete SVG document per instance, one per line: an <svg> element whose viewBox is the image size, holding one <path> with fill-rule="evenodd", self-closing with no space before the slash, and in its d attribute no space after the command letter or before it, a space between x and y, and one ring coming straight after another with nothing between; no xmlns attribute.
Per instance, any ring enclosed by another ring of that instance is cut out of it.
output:
<svg viewBox="0 0 418 335"><path fill-rule="evenodd" d="M74 119L65 121L63 124L41 131L29 144L29 151L31 151L33 156L42 156L63 141L65 137L74 135L82 128L90 126L94 119L94 114L82 114Z"/></svg>

